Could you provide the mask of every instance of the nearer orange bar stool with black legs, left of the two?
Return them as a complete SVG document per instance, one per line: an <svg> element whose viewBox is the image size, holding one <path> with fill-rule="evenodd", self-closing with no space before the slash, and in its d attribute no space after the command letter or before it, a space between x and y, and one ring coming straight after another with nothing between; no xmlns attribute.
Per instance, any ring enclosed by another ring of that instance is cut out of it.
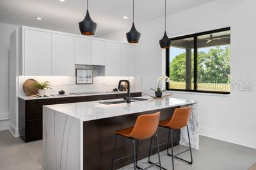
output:
<svg viewBox="0 0 256 170"><path fill-rule="evenodd" d="M115 135L115 143L114 143L114 149L113 149L113 159L112 159L111 170L113 169L113 164L116 161L121 160L123 158L130 157L132 155L133 155L133 159L134 159L134 169L136 169L136 167L138 169L142 169L141 167L139 167L137 165L138 141L143 140L143 139L149 139L151 137L151 142L152 142L152 138L154 135L156 136L156 144L157 144L156 147L157 147L159 162L152 163L152 165L150 165L144 169L148 169L148 168L156 166L156 165L159 166L161 169L159 144L158 144L158 137L156 134L156 130L157 130L158 123L159 123L159 118L160 118L160 112L156 112L154 114L143 114L143 115L138 116L134 127L124 128L122 130L115 131L116 135ZM132 140L133 153L131 155L127 155L125 157L115 159L116 139L118 136L122 136L122 137Z"/></svg>

